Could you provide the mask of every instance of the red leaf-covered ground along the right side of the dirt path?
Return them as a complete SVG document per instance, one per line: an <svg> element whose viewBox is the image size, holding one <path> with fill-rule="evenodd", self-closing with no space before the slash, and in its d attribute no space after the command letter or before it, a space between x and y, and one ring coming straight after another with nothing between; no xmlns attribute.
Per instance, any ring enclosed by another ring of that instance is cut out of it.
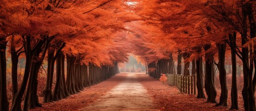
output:
<svg viewBox="0 0 256 111"><path fill-rule="evenodd" d="M215 106L214 103L206 103L206 99L197 99L194 94L180 93L174 86L168 86L159 80L153 79L146 74L137 75L139 82L147 89L153 98L155 105L161 111L228 111L231 106L231 83L228 82L228 107ZM218 78L218 77L217 77ZM230 80L228 75L227 80ZM238 79L238 105L239 111L243 111L243 99L241 89L241 78ZM219 102L221 89L219 83L215 81L217 97ZM241 91L240 91L241 90ZM206 92L205 96L207 98ZM236 110L234 110L236 111Z"/></svg>

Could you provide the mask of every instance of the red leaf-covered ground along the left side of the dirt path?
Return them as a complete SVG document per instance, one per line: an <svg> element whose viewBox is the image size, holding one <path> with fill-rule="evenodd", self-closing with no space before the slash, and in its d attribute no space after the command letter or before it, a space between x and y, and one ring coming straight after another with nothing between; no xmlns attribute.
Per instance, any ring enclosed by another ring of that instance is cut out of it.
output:
<svg viewBox="0 0 256 111"><path fill-rule="evenodd" d="M44 103L42 104L43 107L37 107L31 111L78 111L106 95L121 81L125 80L126 75L125 73L117 74L97 85L85 87L81 93L52 103ZM43 98L40 97L39 102L42 103L42 100Z"/></svg>

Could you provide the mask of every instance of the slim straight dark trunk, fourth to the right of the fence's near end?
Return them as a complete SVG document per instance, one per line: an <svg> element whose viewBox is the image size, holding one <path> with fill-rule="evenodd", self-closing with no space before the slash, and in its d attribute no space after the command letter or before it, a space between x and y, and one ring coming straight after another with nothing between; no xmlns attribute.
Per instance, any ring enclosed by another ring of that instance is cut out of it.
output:
<svg viewBox="0 0 256 111"><path fill-rule="evenodd" d="M236 56L235 56L235 45L236 45L236 33L229 34L229 41L231 47L231 61L232 61L232 86L231 86L231 107L230 110L238 110L237 101L237 86L236 86Z"/></svg>

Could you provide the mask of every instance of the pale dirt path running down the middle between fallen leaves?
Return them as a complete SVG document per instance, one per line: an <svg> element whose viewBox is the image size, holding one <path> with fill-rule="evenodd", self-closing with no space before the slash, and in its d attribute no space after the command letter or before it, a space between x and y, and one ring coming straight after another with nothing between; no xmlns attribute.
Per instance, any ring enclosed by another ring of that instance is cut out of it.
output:
<svg viewBox="0 0 256 111"><path fill-rule="evenodd" d="M137 76L127 74L118 86L80 111L158 111Z"/></svg>

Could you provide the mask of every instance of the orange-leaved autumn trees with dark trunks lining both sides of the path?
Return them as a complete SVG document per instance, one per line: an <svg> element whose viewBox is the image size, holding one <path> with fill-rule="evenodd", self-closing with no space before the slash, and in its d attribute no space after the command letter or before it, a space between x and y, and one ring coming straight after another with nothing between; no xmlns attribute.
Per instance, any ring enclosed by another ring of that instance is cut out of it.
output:
<svg viewBox="0 0 256 111"><path fill-rule="evenodd" d="M221 106L229 65L231 109L242 70L244 110L256 111L255 11L254 0L0 0L0 111L41 106L42 70L48 103L118 74L131 54L155 79L196 75L197 98Z"/></svg>

